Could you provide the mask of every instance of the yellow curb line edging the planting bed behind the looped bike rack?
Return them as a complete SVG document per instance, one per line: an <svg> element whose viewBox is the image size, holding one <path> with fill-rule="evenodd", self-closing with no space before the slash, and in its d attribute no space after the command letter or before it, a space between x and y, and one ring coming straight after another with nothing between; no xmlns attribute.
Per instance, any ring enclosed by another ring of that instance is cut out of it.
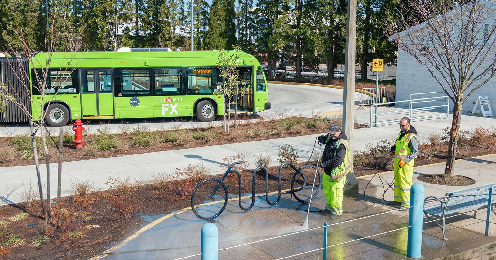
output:
<svg viewBox="0 0 496 260"><path fill-rule="evenodd" d="M282 192L287 192L287 191L291 191L291 189L282 190L281 193ZM268 194L269 195L273 195L273 194L277 194L277 193L279 193L279 191L269 192ZM265 194L255 194L255 197L260 197L260 196L265 196ZM251 195L241 197L241 199L246 199L246 198L251 198ZM231 199L229 199L227 201L233 201L233 200L239 200L239 198L238 197L231 198ZM212 204L216 204L216 203L219 203L219 202L223 202L223 201L209 202L209 203L204 203L204 204L200 204L200 205L196 205L196 206L207 206L207 205L212 205ZM174 211L174 212L172 212L170 214L167 214L167 215L165 215L163 217L160 217L160 218L156 219L155 221L153 221L151 223L148 223L146 226L140 228L138 231L134 232L134 234L130 235L129 237L127 237L126 239L124 239L119 244L113 246L110 249L105 250L104 252L102 252L100 254L111 253L112 251L115 251L115 250L121 248L122 246L125 245L125 243L127 243L127 242L129 242L129 241L131 241L131 240L133 240L133 239L135 239L137 237L139 237L141 234L143 234L144 232L148 231L150 228L158 225L160 222L162 222L162 221L164 221L164 220L166 220L166 219L168 219L168 218L170 218L170 217L172 217L174 215L183 213L183 212L185 212L185 211L187 211L189 209L191 209L191 207L187 207L187 208L183 208L183 209ZM93 257L90 260L99 260L99 259L104 258L106 256L108 256L108 255L100 255L100 256Z"/></svg>

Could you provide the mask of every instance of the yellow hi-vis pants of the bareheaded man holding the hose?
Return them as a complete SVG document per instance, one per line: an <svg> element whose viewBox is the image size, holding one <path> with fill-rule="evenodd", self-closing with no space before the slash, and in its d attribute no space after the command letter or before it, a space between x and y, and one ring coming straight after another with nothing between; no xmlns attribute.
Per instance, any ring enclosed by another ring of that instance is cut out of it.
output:
<svg viewBox="0 0 496 260"><path fill-rule="evenodd" d="M402 202L403 207L410 207L410 188L412 187L413 164L415 159L400 167L394 159L394 201Z"/></svg>

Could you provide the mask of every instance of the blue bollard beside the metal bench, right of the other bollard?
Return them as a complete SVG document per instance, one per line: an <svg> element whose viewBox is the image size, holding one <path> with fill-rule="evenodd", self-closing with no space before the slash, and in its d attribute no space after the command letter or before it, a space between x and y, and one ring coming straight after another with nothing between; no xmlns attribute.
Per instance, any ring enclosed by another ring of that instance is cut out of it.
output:
<svg viewBox="0 0 496 260"><path fill-rule="evenodd" d="M412 185L410 192L410 212L408 214L408 248L406 256L420 259L422 257L422 228L424 213L424 186L420 183Z"/></svg>

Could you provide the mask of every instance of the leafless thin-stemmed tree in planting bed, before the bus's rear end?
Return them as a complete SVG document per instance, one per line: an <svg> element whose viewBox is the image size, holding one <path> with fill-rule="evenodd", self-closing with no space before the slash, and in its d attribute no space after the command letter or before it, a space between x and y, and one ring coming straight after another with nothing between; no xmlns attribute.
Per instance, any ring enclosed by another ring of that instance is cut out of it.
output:
<svg viewBox="0 0 496 260"><path fill-rule="evenodd" d="M12 68L13 77L15 77L18 82L22 85L20 90L14 90L14 99L11 102L15 104L19 109L27 115L29 120L38 127L39 133L42 138L44 154L47 166L47 210L45 212L45 218L49 221L50 217L50 162L49 162L49 152L47 146L47 134L49 134L48 128L45 125L45 119L49 116L49 106L56 95L59 94L60 90L65 86L67 80L69 80L70 75L77 67L77 62L74 62L76 53L65 52L58 55L56 61L54 61L53 54L51 50L55 50L58 46L57 39L60 39L61 32L57 31L57 25L60 22L58 18L58 5L59 2L55 1L54 11L49 18L50 29L47 32L47 38L45 38L45 44L43 46L43 52L38 52L35 46L31 46L28 43L28 39L23 36L21 29L17 28L2 28L2 31L10 30L13 32L13 37L5 37L8 48L11 53L22 53L22 56L16 55L12 62L8 62L9 66ZM6 34L4 34L6 35ZM15 39L14 39L15 37ZM78 35L73 35L73 37L80 37ZM13 41L18 41L21 43L21 50L16 50ZM76 40L72 40L76 41ZM80 45L79 45L80 47ZM29 68L22 65L21 60L25 57L28 58L30 67L41 67L41 69L36 69L33 71L30 77ZM14 62L14 61L17 62ZM54 63L55 62L55 63ZM57 69L50 69L50 67L56 67ZM31 95L31 90L36 92L37 97L33 98ZM28 95L30 97L30 102L25 104L22 102L21 96ZM66 115L70 116L70 115ZM34 140L34 138L33 138ZM33 149L35 156L36 153L36 143L33 141ZM36 169L39 173L38 160L35 158ZM41 187L41 184L40 184ZM40 189L40 197L42 197L42 191ZM43 202L42 202L43 208Z"/></svg>

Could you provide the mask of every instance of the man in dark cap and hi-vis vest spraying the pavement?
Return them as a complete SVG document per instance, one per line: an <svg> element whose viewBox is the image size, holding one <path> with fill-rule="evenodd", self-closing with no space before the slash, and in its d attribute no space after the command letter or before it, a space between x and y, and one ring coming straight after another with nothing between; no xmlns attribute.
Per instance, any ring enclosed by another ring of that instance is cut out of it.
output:
<svg viewBox="0 0 496 260"><path fill-rule="evenodd" d="M348 139L341 131L341 126L332 123L327 135L318 137L319 145L325 144L320 166L324 168L322 189L324 190L326 205L319 210L322 214L331 213L331 216L343 214L343 189L353 163L351 162Z"/></svg>

